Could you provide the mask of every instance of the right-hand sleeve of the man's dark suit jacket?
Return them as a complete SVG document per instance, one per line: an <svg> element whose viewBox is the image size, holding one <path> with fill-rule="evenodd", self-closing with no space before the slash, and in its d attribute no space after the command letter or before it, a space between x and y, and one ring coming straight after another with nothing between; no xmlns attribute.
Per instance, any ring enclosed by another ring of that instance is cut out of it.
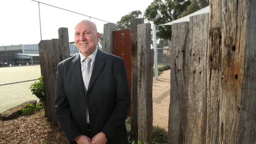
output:
<svg viewBox="0 0 256 144"><path fill-rule="evenodd" d="M115 109L102 129L108 139L114 139L120 131L123 131L130 106L130 92L123 59L119 64L116 79L117 96Z"/></svg>

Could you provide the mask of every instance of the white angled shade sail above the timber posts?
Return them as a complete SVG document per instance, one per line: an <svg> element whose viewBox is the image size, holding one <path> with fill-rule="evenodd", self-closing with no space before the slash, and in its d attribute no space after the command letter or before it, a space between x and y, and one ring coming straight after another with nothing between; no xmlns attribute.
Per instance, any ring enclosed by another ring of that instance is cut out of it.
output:
<svg viewBox="0 0 256 144"><path fill-rule="evenodd" d="M204 7L194 13L191 13L189 15L186 15L185 17L173 20L171 22L167 22L163 25L172 25L174 23L178 23L178 22L189 22L189 17L194 16L194 15L199 15L199 14L203 14L203 13L209 13L210 12L210 6Z"/></svg>

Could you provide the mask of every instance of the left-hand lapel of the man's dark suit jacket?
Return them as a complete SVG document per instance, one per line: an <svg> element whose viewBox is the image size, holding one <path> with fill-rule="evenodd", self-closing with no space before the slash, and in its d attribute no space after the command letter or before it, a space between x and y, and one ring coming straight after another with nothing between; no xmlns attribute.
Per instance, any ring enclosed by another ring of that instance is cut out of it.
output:
<svg viewBox="0 0 256 144"><path fill-rule="evenodd" d="M79 85L80 89L83 89L83 77L81 72L81 63L80 63L80 55L77 54L74 59L72 60L72 73L76 79L76 82Z"/></svg>

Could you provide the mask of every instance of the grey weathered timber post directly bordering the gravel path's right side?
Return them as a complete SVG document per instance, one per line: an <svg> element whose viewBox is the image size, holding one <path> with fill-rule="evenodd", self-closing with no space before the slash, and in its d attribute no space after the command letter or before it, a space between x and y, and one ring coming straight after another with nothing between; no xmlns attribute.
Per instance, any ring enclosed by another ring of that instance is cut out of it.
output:
<svg viewBox="0 0 256 144"><path fill-rule="evenodd" d="M172 25L168 144L185 144L189 72L189 22Z"/></svg>

